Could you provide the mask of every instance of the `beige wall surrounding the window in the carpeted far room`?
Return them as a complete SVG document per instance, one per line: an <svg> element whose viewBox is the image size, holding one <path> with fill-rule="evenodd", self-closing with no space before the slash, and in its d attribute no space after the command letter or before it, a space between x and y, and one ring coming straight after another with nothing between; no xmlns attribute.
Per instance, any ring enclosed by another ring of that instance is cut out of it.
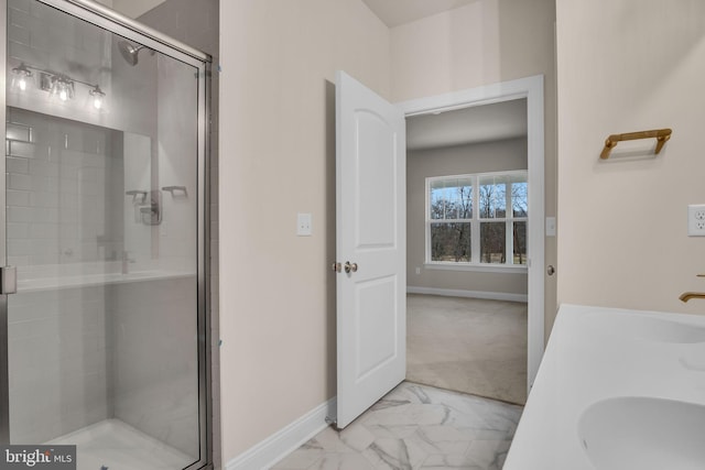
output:
<svg viewBox="0 0 705 470"><path fill-rule="evenodd" d="M426 178L527 170L527 139L410 151L406 154L406 284L412 287L527 295L525 273L424 267ZM416 274L416 267L420 274Z"/></svg>

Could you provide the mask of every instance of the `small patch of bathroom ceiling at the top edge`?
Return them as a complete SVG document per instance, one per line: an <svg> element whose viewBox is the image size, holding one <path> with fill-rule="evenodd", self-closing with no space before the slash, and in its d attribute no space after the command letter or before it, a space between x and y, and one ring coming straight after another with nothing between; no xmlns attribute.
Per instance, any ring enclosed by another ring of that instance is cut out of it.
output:
<svg viewBox="0 0 705 470"><path fill-rule="evenodd" d="M389 28L411 23L477 0L362 0Z"/></svg>

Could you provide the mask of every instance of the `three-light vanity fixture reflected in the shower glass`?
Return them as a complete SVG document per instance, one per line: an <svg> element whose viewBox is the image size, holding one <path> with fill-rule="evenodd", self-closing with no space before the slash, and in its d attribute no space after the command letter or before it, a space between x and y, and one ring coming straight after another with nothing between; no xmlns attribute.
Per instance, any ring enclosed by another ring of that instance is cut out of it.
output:
<svg viewBox="0 0 705 470"><path fill-rule="evenodd" d="M20 91L25 91L29 84L32 81L34 74L32 70L39 72L40 86L39 88L48 91L51 96L57 97L62 101L68 101L74 99L76 95L76 84L85 85L88 87L88 95L93 98L93 106L96 109L102 108L102 101L106 97L105 91L100 89L98 84L89 84L77 78L69 77L66 74L45 70L40 67L26 65L21 63L18 67L12 69L12 87Z"/></svg>

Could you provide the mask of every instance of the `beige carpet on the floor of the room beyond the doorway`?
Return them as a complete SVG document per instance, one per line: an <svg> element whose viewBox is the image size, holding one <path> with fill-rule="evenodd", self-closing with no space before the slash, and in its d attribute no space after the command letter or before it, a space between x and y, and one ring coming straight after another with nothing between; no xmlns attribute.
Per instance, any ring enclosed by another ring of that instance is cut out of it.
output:
<svg viewBox="0 0 705 470"><path fill-rule="evenodd" d="M527 402L527 304L406 296L406 380Z"/></svg>

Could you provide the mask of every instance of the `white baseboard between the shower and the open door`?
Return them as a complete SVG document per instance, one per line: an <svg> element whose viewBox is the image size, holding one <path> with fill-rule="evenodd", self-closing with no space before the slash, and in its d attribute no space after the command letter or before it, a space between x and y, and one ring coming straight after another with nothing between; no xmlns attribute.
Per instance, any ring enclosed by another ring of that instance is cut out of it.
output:
<svg viewBox="0 0 705 470"><path fill-rule="evenodd" d="M230 460L226 470L271 468L325 429L328 426L326 416L335 416L335 411L336 398L333 397Z"/></svg>

